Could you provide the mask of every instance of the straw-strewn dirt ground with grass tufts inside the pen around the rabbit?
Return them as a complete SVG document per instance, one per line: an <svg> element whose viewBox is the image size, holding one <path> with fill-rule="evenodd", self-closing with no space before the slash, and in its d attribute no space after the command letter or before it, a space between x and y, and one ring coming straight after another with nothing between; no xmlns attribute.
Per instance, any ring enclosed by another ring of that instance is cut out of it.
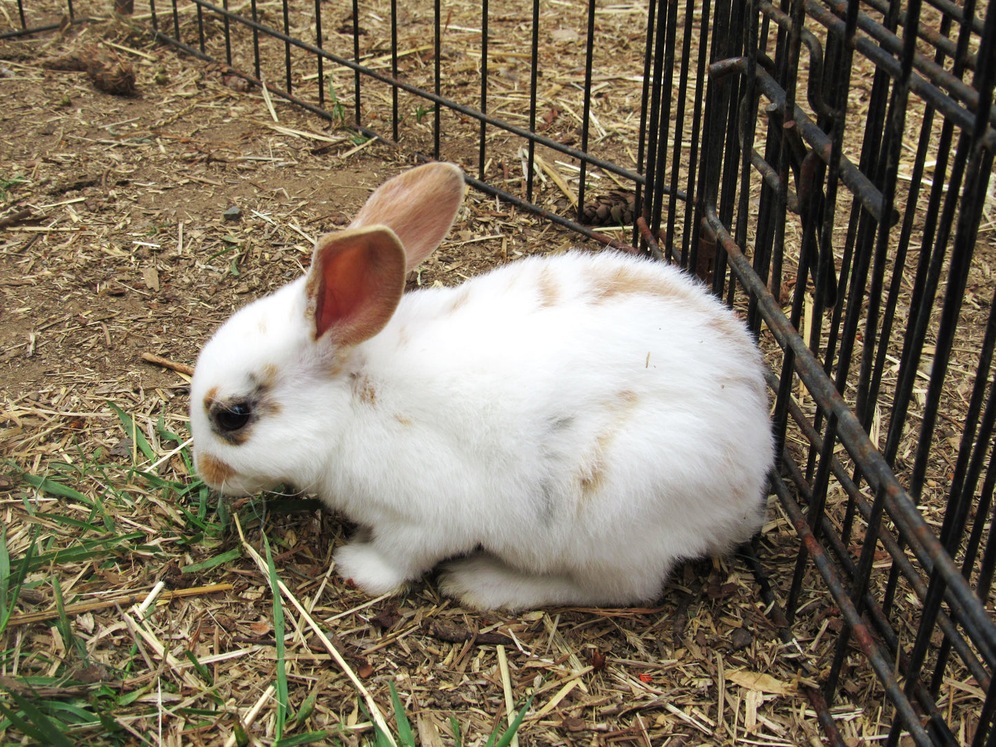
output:
<svg viewBox="0 0 996 747"><path fill-rule="evenodd" d="M126 48L135 95L46 67L99 39ZM449 743L454 724L482 744L530 694L523 744L817 739L801 689L812 682L784 663L736 559L687 564L652 609L481 616L431 578L399 598L351 588L330 573L349 527L314 503L201 489L185 445L188 377L142 356L193 366L216 326L297 277L314 237L348 222L413 162L408 151L279 100L275 122L258 90L114 23L3 43L0 76L0 217L30 211L0 234L0 561L9 556L11 578L28 567L20 594L0 600L17 603L0 684L95 744L222 744L240 720L270 743L281 709L267 687L282 672L285 733L348 743L373 738L360 703L366 689L390 712L389 684L426 745ZM411 282L454 285L577 243L471 192ZM786 578L788 529L773 502L763 554ZM272 572L253 558L264 537ZM279 611L274 577L289 588ZM166 592L136 622L130 606L156 582ZM61 616L30 617L63 603ZM840 621L810 612L816 649ZM846 684L836 713L854 743L877 734L879 698L873 680ZM3 722L0 736L20 738Z"/></svg>

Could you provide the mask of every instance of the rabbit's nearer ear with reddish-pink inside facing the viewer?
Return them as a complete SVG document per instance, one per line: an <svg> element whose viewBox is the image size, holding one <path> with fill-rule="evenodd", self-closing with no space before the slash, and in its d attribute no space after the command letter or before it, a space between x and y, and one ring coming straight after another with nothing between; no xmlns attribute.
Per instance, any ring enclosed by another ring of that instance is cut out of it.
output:
<svg viewBox="0 0 996 747"><path fill-rule="evenodd" d="M357 345L380 332L401 300L404 262L401 242L386 226L322 236L305 286L315 339L328 334L336 345Z"/></svg>

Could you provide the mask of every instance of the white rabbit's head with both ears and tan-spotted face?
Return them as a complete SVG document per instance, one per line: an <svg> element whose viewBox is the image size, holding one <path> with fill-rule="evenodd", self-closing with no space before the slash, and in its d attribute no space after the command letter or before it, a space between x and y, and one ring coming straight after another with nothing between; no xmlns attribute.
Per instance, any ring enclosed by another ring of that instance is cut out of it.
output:
<svg viewBox="0 0 996 747"><path fill-rule="evenodd" d="M407 271L438 246L462 196L450 163L386 181L347 229L318 240L307 275L218 330L190 385L195 464L208 485L232 495L310 487L348 436L350 362L390 321Z"/></svg>

